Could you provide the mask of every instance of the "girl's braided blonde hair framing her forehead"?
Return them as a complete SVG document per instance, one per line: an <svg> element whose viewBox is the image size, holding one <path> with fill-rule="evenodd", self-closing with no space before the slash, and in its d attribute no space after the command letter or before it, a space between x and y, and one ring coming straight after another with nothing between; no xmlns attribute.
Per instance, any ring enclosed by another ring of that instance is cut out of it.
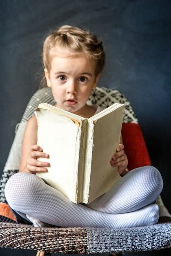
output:
<svg viewBox="0 0 171 256"><path fill-rule="evenodd" d="M64 25L47 36L43 44L42 59L48 72L51 70L51 60L56 55L55 49L58 47L67 49L73 54L84 52L88 58L96 60L95 76L102 72L105 63L104 47L102 41L88 29L82 30L78 27ZM44 76L39 87L46 86Z"/></svg>

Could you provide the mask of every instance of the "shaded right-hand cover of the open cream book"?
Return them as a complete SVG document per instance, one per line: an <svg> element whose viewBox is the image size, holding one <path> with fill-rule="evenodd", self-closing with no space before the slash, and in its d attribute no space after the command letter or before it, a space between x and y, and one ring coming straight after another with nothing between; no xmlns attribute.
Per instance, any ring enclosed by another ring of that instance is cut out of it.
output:
<svg viewBox="0 0 171 256"><path fill-rule="evenodd" d="M124 106L94 123L89 202L111 189L121 178L110 160L120 143Z"/></svg>

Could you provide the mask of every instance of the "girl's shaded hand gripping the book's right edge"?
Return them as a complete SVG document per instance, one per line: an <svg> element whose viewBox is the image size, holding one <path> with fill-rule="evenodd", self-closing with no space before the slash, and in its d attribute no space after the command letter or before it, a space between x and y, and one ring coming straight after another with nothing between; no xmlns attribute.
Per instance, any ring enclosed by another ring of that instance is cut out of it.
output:
<svg viewBox="0 0 171 256"><path fill-rule="evenodd" d="M128 159L127 155L124 153L124 145L119 144L116 151L117 152L112 156L110 163L111 166L119 166L119 174L124 176L126 173L128 173Z"/></svg>

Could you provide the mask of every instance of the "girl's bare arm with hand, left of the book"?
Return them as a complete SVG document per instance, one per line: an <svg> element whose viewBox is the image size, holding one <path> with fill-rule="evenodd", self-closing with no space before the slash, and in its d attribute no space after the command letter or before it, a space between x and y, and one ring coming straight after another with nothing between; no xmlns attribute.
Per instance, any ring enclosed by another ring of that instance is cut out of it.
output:
<svg viewBox="0 0 171 256"><path fill-rule="evenodd" d="M49 157L49 155L42 152L42 148L37 145L37 130L37 119L36 116L33 115L27 123L22 140L22 155L19 172L35 174L36 172L47 171L47 168L43 167L49 166L49 163L37 160L38 157Z"/></svg>

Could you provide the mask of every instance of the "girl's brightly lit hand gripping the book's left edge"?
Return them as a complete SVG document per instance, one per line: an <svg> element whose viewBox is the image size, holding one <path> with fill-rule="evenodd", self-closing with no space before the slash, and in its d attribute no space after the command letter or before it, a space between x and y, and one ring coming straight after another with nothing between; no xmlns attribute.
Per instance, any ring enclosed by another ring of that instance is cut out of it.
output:
<svg viewBox="0 0 171 256"><path fill-rule="evenodd" d="M37 160L38 157L49 157L48 154L44 153L42 148L38 145L32 145L31 151L27 158L27 169L34 174L36 172L48 172L45 166L49 166L48 162L40 162Z"/></svg>

